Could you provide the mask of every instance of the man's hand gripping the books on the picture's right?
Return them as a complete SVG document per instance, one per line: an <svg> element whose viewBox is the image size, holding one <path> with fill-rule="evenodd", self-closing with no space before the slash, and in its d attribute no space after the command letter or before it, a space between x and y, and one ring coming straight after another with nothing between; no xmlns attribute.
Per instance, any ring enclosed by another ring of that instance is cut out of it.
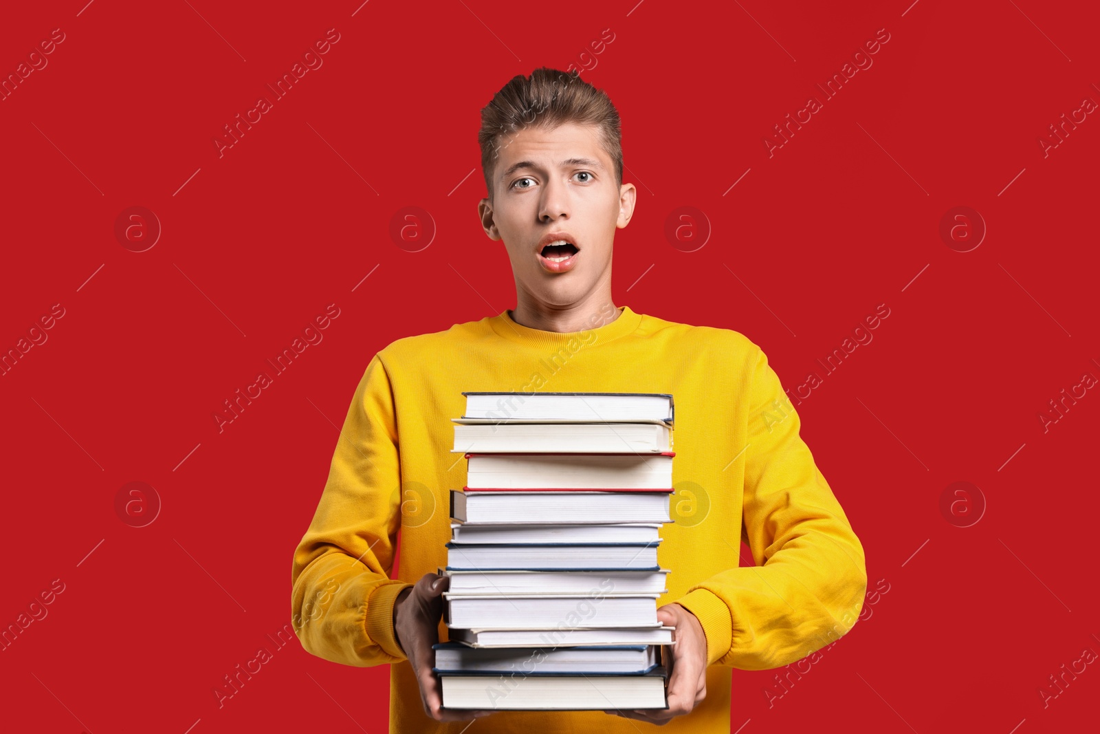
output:
<svg viewBox="0 0 1100 734"><path fill-rule="evenodd" d="M604 713L663 726L672 721L673 716L691 713L692 709L706 698L706 636L703 634L703 625L694 614L675 603L666 604L657 610L657 618L661 624L676 628L673 633L675 645L661 647L669 673L669 708L630 711L616 709Z"/></svg>

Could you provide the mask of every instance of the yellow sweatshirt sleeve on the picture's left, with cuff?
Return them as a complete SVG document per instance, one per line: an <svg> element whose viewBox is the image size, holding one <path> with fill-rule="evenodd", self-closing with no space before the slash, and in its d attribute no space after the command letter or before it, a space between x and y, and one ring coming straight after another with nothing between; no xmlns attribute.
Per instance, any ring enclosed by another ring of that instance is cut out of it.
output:
<svg viewBox="0 0 1100 734"><path fill-rule="evenodd" d="M337 439L329 478L294 552L292 622L301 646L333 662L407 659L394 635L394 601L410 583L392 580L400 463L394 397L375 354Z"/></svg>

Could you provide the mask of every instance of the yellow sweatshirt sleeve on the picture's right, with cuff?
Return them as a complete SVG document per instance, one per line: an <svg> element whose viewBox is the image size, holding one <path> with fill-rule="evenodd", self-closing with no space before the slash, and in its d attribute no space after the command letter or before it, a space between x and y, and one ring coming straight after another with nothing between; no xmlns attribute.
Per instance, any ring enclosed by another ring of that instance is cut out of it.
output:
<svg viewBox="0 0 1100 734"><path fill-rule="evenodd" d="M867 569L759 348L751 384L741 539L756 566L716 573L676 601L703 626L707 665L765 670L846 634L864 605Z"/></svg>

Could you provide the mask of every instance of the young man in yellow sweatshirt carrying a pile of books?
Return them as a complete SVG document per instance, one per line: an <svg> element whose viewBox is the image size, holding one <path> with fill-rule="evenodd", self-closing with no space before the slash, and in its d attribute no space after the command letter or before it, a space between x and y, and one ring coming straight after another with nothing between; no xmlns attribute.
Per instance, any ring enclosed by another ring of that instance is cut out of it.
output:
<svg viewBox="0 0 1100 734"><path fill-rule="evenodd" d="M637 719L726 734L733 668L788 665L855 624L862 546L757 344L612 302L612 243L636 190L623 183L619 117L606 95L536 69L482 110L479 138L488 190L479 215L512 261L516 308L398 339L373 357L295 551L295 629L328 660L393 664L391 732L487 716L476 733L632 733L626 719ZM462 391L674 396L675 484L707 508L661 529L659 561L671 573L658 616L676 628L666 648L668 710L441 708L431 645L446 635L448 580L435 571L447 562L448 493L465 483L465 462L450 452ZM756 567L738 568L743 540Z"/></svg>

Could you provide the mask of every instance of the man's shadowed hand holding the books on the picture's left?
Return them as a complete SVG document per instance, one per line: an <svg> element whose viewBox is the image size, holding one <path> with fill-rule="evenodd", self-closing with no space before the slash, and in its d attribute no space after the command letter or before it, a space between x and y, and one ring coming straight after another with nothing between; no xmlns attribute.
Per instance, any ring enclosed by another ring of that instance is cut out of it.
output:
<svg viewBox="0 0 1100 734"><path fill-rule="evenodd" d="M443 691L439 678L431 671L436 662L431 646L439 642L439 621L443 615L442 593L450 583L447 577L425 573L416 585L402 591L394 602L394 633L420 683L424 712L436 721L472 721L493 712L443 709Z"/></svg>

